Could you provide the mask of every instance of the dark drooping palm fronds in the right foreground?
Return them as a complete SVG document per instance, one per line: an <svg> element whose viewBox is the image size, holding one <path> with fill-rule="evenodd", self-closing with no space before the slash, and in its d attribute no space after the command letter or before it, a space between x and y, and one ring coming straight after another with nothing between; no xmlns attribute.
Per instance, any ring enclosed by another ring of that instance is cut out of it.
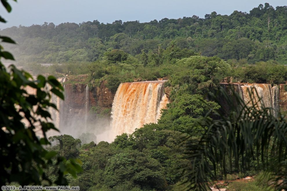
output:
<svg viewBox="0 0 287 191"><path fill-rule="evenodd" d="M201 130L189 132L186 153L190 165L186 169L191 169L191 189L208 190L209 182L218 175L226 180L228 171L243 172L251 161L274 174L278 189L287 187L287 120L279 111L265 107L255 90L249 95L246 103L235 91L230 96L221 87L213 98L222 109L212 111L213 120L206 117L199 124Z"/></svg>

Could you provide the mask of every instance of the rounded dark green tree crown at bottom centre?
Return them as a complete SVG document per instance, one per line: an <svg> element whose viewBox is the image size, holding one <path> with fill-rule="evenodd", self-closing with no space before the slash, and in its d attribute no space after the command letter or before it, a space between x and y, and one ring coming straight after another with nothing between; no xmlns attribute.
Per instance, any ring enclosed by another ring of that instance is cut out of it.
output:
<svg viewBox="0 0 287 191"><path fill-rule="evenodd" d="M132 181L145 190L165 190L167 184L159 162L137 150L118 153L111 157L105 168L105 184L110 188L120 182Z"/></svg>

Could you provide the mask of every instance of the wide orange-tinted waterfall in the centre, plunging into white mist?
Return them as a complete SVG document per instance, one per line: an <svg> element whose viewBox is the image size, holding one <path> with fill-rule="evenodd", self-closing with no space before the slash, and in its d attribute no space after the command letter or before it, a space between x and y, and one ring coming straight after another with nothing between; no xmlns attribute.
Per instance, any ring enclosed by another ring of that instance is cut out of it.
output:
<svg viewBox="0 0 287 191"><path fill-rule="evenodd" d="M165 81L121 83L112 104L112 132L115 135L132 133L147 123L157 123L168 98Z"/></svg>

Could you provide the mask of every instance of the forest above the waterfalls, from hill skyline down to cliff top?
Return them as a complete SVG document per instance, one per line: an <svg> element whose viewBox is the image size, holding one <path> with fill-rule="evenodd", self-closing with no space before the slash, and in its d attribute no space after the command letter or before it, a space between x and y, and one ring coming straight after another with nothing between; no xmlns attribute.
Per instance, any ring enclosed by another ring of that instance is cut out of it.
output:
<svg viewBox="0 0 287 191"><path fill-rule="evenodd" d="M234 82L278 84L287 78L286 68L280 66L287 59L286 18L287 6L265 3L249 13L212 12L204 19L194 15L149 23L44 23L0 32L17 42L5 48L28 71L55 76L90 73L92 79L108 74L112 89L117 88L116 81L167 77L177 60L194 55L226 60ZM37 63L54 66L47 71Z"/></svg>

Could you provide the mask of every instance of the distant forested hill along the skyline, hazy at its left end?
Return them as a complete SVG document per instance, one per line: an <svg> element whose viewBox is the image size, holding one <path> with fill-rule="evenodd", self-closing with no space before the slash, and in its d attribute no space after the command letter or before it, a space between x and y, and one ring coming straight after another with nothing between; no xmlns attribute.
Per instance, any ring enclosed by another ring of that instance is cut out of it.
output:
<svg viewBox="0 0 287 191"><path fill-rule="evenodd" d="M161 56L173 56L178 50L188 49L198 55L225 60L285 63L286 29L287 6L273 8L265 3L249 13L234 11L229 16L212 12L205 18L193 15L148 23L117 20L104 24L94 20L56 26L45 22L6 28L0 34L17 41L18 45L5 47L18 62L25 63L93 62L113 49L120 49L140 62L143 62L142 52L152 57L153 53L167 50ZM155 64L160 65L161 60Z"/></svg>

